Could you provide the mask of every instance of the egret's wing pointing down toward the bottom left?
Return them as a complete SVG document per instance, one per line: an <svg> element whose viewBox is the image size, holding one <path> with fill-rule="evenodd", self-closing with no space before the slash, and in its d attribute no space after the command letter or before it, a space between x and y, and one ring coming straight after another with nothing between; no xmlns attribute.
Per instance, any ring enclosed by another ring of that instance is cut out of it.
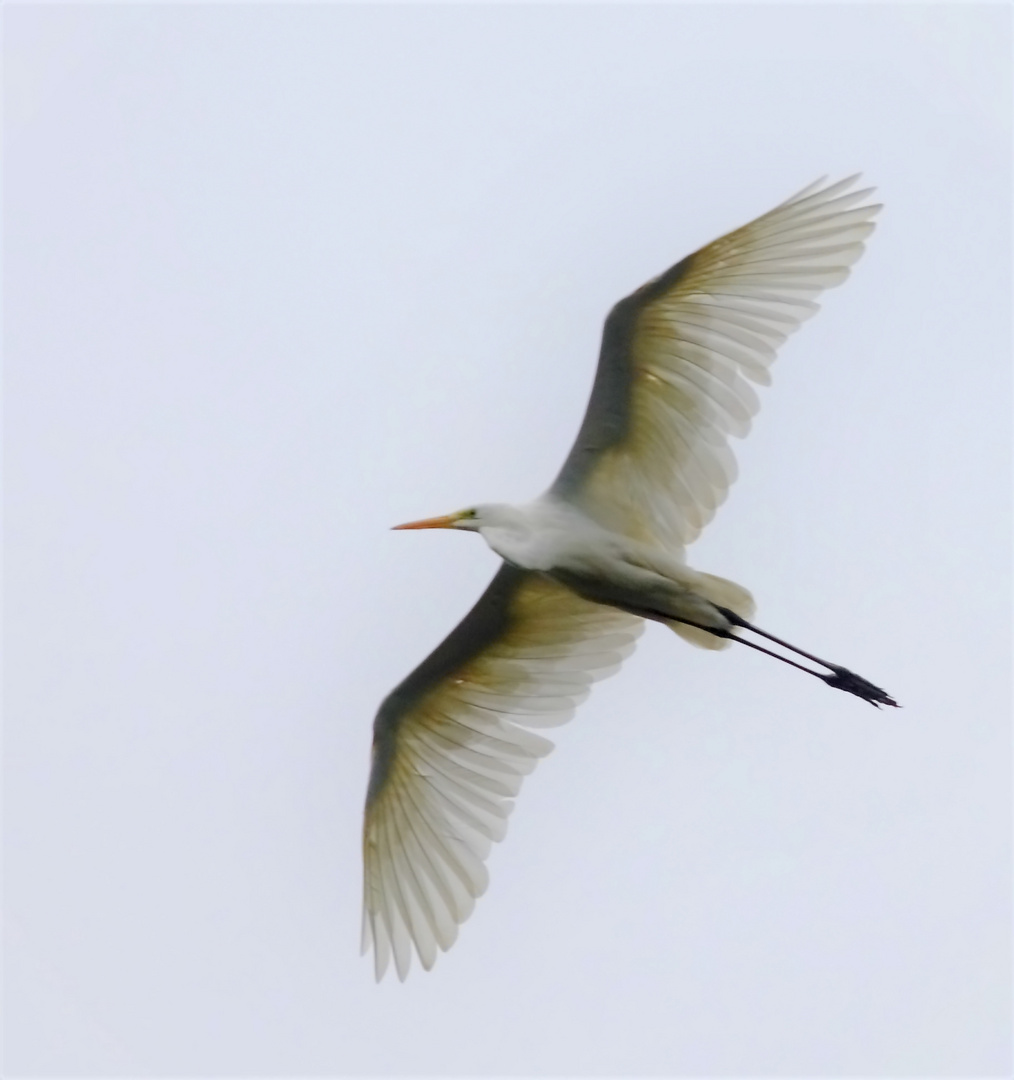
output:
<svg viewBox="0 0 1014 1080"><path fill-rule="evenodd" d="M363 950L377 978L411 946L432 967L486 888L522 777L589 685L634 649L640 619L504 563L474 608L387 697L374 724L363 829Z"/></svg>

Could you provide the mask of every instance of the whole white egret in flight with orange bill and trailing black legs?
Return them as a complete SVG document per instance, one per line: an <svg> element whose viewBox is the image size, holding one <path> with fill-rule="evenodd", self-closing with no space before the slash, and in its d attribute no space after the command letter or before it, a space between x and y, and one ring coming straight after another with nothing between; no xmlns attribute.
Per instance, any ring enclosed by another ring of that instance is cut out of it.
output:
<svg viewBox="0 0 1014 1080"><path fill-rule="evenodd" d="M377 978L413 948L430 969L486 889L522 778L590 684L619 670L644 620L706 649L778 657L874 705L883 690L748 621L751 594L692 570L685 548L735 477L775 349L863 253L880 206L857 177L810 185L610 311L587 411L559 475L525 505L485 504L400 529L478 532L503 559L374 725L363 831L363 950ZM783 646L813 669L742 636Z"/></svg>

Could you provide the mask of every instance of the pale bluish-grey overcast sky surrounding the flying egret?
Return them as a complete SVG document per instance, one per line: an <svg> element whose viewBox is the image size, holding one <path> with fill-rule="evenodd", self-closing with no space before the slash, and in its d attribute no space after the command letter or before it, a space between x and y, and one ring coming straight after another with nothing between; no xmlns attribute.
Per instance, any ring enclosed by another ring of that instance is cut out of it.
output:
<svg viewBox="0 0 1014 1080"><path fill-rule="evenodd" d="M1006 5L19 6L6 1075L1011 1068ZM904 704L649 627L429 974L360 959L373 715L621 296L885 203L690 551Z"/></svg>

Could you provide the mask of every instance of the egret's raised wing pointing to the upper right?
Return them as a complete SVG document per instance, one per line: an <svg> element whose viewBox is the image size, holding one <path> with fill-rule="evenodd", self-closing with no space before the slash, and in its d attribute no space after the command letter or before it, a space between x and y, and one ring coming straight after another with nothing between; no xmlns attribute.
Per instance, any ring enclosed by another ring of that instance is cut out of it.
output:
<svg viewBox="0 0 1014 1080"><path fill-rule="evenodd" d="M679 549L735 478L775 348L849 275L879 205L823 180L688 256L609 313L592 397L550 489L604 525ZM856 205L860 203L861 205Z"/></svg>

